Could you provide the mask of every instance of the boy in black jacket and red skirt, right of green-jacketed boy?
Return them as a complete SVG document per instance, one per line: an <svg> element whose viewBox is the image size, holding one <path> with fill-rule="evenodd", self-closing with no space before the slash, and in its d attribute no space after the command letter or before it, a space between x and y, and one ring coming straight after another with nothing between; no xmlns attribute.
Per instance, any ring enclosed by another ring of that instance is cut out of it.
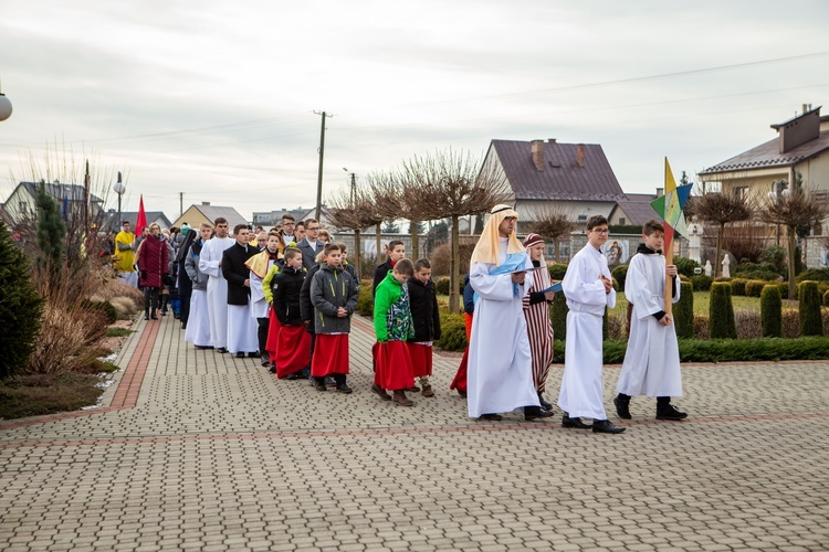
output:
<svg viewBox="0 0 829 552"><path fill-rule="evenodd" d="M414 320L414 339L409 341L409 355L423 396L434 396L429 376L432 375L432 342L440 339L438 296L431 276L429 259L419 258L414 263L414 275L407 283Z"/></svg>

